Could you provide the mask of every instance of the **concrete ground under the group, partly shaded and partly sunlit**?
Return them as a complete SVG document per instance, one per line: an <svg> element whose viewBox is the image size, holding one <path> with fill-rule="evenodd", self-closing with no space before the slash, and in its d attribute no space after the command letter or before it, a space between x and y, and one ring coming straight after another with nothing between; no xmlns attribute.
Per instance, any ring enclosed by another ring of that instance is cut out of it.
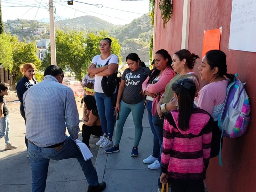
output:
<svg viewBox="0 0 256 192"><path fill-rule="evenodd" d="M28 192L31 191L32 180L24 142L25 123L19 108L14 108L12 105L14 104L8 103L10 141L18 148L5 150L4 138L0 139L0 192ZM148 165L142 162L152 154L153 149L153 134L148 124L146 109L138 157L131 157L134 132L132 114L130 114L124 127L120 152L105 154L104 149L100 148L95 165L99 181L107 182L104 192L157 191L160 171L149 170ZM81 132L79 139L82 139ZM87 181L76 159L50 161L45 192L87 191L87 187Z"/></svg>

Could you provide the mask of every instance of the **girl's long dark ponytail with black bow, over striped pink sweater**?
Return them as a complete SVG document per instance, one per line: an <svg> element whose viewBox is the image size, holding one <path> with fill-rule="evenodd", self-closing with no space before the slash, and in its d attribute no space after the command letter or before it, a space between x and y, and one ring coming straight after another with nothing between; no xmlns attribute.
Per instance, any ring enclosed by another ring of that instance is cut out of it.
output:
<svg viewBox="0 0 256 192"><path fill-rule="evenodd" d="M196 84L190 79L180 79L177 81L177 83L172 84L172 90L178 96L179 128L183 131L186 131L189 128L189 119L193 112Z"/></svg>

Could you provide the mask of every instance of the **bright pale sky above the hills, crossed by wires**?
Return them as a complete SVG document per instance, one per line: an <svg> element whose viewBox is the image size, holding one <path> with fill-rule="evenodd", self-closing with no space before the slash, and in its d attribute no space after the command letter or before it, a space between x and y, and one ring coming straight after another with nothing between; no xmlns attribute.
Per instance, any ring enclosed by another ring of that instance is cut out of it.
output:
<svg viewBox="0 0 256 192"><path fill-rule="evenodd" d="M149 11L149 0L77 0L87 4L74 2L68 5L65 0L54 0L56 18L72 19L84 15L93 15L113 24L127 24ZM40 4L41 3L41 4ZM1 0L3 20L27 19L41 20L49 18L49 0ZM97 6L89 4L99 4ZM102 4L102 5L100 5ZM40 7L39 7L40 5ZM39 8L38 8L39 7ZM114 9L110 9L114 8ZM119 10L124 11L119 11Z"/></svg>

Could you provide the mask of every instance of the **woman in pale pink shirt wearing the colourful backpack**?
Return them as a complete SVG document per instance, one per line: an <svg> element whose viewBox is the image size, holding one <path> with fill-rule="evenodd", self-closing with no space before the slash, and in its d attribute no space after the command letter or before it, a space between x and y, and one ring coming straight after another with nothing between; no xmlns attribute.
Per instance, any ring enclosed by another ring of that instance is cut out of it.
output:
<svg viewBox="0 0 256 192"><path fill-rule="evenodd" d="M209 82L199 91L198 96L195 98L195 104L210 113L214 119L211 146L212 158L219 155L221 132L218 127L218 116L227 95L229 79L233 79L234 75L227 74L226 54L220 50L208 51L202 59L198 70L201 80ZM222 141L223 139L221 143Z"/></svg>

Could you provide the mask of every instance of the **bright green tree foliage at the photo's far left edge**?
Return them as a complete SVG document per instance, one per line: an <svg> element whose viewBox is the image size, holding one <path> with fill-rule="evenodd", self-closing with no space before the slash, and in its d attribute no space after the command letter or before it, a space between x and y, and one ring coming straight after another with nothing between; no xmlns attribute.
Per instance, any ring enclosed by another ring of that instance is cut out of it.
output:
<svg viewBox="0 0 256 192"><path fill-rule="evenodd" d="M12 44L11 36L0 34L0 63L5 69L12 70Z"/></svg>

